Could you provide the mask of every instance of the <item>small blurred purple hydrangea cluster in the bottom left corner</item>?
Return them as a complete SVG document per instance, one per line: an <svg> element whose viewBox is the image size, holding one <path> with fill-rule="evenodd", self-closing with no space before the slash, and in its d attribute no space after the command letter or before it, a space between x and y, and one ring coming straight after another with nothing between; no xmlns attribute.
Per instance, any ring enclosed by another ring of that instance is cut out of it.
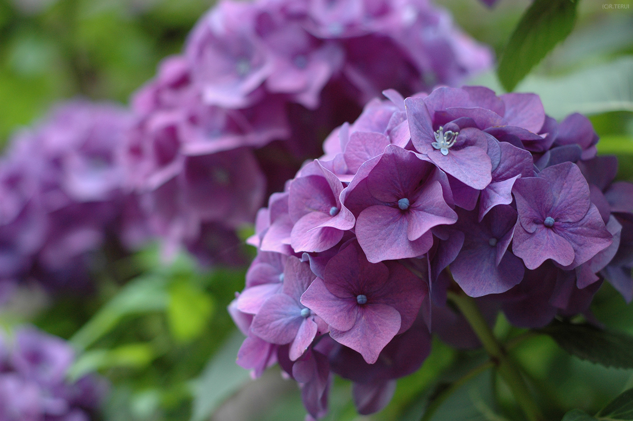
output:
<svg viewBox="0 0 633 421"><path fill-rule="evenodd" d="M0 335L0 419L3 421L89 421L107 391L105 380L66 376L73 349L63 339L33 327L15 337Z"/></svg>

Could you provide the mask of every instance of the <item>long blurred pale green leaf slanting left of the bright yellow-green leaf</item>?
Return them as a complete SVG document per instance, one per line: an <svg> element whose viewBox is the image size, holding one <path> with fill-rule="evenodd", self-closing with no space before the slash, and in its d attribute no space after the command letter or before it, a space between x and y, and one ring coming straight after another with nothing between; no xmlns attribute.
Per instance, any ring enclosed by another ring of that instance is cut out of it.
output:
<svg viewBox="0 0 633 421"><path fill-rule="evenodd" d="M123 317L165 311L168 295L163 277L148 275L130 281L94 317L70 338L77 349L85 349L114 329Z"/></svg>

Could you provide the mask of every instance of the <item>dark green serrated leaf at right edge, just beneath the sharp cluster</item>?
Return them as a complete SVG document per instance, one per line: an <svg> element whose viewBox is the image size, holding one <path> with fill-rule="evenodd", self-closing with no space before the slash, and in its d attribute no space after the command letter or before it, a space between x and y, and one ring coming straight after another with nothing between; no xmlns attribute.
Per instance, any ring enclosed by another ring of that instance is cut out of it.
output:
<svg viewBox="0 0 633 421"><path fill-rule="evenodd" d="M568 353L605 367L633 368L633 336L589 324L555 321L540 330Z"/></svg>

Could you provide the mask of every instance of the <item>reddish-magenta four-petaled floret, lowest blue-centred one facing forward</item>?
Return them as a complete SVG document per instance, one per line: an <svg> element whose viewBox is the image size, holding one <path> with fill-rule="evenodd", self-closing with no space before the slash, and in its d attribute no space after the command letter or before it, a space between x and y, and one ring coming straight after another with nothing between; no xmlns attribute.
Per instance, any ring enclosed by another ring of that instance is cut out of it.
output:
<svg viewBox="0 0 633 421"><path fill-rule="evenodd" d="M352 243L325 267L301 296L301 304L330 325L330 336L358 351L368 363L415 320L426 295L422 283L401 265L370 263Z"/></svg>

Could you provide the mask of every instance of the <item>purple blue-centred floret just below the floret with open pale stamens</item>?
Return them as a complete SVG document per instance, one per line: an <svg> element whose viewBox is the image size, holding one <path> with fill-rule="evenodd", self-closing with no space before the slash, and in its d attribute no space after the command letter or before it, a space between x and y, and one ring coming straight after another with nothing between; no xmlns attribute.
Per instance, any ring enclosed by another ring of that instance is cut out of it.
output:
<svg viewBox="0 0 633 421"><path fill-rule="evenodd" d="M391 145L367 174L366 189L348 191L347 198L364 207L356 237L369 261L420 256L432 245L432 227L457 220L434 180L436 171L415 153Z"/></svg>

